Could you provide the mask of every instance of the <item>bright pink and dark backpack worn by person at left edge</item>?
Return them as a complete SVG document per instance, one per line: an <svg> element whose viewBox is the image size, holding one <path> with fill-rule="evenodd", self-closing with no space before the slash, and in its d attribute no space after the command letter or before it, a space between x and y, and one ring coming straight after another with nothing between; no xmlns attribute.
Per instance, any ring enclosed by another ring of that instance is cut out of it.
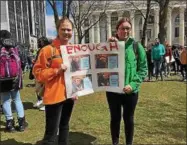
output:
<svg viewBox="0 0 187 145"><path fill-rule="evenodd" d="M0 49L0 80L13 80L20 74L18 49L5 40L8 45Z"/></svg>

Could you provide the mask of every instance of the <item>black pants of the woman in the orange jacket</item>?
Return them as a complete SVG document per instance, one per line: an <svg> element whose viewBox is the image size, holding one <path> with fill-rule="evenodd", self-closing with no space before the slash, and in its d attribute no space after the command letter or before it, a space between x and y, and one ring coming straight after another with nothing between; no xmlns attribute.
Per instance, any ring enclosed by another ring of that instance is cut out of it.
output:
<svg viewBox="0 0 187 145"><path fill-rule="evenodd" d="M58 104L45 105L46 126L42 145L68 144L69 120L73 104L74 101L72 99L67 99ZM56 141L58 130L59 138Z"/></svg>

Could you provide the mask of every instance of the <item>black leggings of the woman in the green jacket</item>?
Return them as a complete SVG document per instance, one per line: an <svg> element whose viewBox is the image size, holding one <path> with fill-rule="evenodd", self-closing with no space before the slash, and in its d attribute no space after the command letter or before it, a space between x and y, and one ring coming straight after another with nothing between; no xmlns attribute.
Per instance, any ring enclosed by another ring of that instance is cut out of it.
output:
<svg viewBox="0 0 187 145"><path fill-rule="evenodd" d="M127 95L107 92L106 95L110 109L110 130L113 145L119 143L121 108L123 108L126 144L132 144L134 135L134 111L138 101L138 93Z"/></svg>

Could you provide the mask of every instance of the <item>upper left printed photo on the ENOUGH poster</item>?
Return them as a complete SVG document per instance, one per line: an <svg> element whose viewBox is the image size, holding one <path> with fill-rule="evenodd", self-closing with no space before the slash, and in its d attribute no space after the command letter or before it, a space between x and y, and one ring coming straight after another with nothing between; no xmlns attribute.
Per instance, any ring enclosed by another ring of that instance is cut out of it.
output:
<svg viewBox="0 0 187 145"><path fill-rule="evenodd" d="M76 72L90 69L90 55L69 56L70 71Z"/></svg>

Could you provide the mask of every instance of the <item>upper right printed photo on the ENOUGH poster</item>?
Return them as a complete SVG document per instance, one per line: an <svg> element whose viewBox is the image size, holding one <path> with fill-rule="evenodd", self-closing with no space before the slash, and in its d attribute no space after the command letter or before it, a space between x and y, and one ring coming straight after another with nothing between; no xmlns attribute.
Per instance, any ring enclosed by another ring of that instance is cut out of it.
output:
<svg viewBox="0 0 187 145"><path fill-rule="evenodd" d="M96 68L112 69L118 68L117 54L96 54L95 55Z"/></svg>

